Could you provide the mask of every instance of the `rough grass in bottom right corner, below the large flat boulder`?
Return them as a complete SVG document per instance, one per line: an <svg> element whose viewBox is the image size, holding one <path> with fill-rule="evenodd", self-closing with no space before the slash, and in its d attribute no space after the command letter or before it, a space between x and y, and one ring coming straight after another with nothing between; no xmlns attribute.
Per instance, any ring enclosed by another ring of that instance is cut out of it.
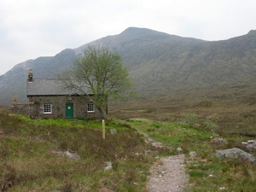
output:
<svg viewBox="0 0 256 192"><path fill-rule="evenodd" d="M188 191L255 191L255 166L212 157L188 165Z"/></svg>

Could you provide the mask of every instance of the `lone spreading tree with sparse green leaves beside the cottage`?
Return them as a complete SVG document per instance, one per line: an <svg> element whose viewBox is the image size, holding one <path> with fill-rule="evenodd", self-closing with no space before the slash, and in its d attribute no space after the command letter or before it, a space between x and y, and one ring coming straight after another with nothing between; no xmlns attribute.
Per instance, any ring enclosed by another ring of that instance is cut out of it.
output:
<svg viewBox="0 0 256 192"><path fill-rule="evenodd" d="M121 56L103 47L88 46L62 76L65 86L89 96L104 118L107 118L108 99L131 93L131 80Z"/></svg>

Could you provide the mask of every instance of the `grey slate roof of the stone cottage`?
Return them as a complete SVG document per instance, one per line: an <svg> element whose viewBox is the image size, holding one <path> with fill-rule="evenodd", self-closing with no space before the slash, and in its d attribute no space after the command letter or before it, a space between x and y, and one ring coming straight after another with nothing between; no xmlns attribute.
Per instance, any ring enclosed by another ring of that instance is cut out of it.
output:
<svg viewBox="0 0 256 192"><path fill-rule="evenodd" d="M90 94L90 93L89 93ZM33 79L26 84L27 96L72 96L77 91L65 88L59 79Z"/></svg>

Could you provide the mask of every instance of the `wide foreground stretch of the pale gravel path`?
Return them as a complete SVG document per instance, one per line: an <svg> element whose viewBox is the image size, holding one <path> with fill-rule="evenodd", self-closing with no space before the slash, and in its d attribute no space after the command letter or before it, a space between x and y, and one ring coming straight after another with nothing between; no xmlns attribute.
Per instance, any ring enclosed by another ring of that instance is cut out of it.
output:
<svg viewBox="0 0 256 192"><path fill-rule="evenodd" d="M150 169L149 192L182 192L188 183L184 155L161 158Z"/></svg>

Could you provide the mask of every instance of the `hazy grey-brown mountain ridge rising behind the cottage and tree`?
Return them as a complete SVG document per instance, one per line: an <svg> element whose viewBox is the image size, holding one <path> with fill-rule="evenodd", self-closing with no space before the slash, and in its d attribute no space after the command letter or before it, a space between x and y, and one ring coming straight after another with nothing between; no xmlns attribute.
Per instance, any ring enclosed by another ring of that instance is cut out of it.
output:
<svg viewBox="0 0 256 192"><path fill-rule="evenodd" d="M223 41L204 41L130 27L90 44L107 46L122 55L137 91L143 96L256 84L256 31ZM0 76L0 102L9 103L12 96L26 101L28 68L33 69L34 78L54 77L70 67L87 45L16 65Z"/></svg>

